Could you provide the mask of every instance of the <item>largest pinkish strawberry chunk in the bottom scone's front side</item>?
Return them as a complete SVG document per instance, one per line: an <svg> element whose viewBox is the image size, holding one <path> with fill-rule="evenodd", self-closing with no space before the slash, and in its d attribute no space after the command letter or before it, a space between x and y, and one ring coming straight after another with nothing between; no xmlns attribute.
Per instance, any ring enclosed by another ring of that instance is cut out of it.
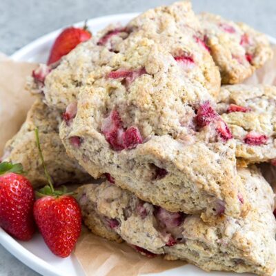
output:
<svg viewBox="0 0 276 276"><path fill-rule="evenodd" d="M155 208L155 216L157 217L159 222L168 230L180 226L180 224L184 221L183 213L172 213L161 207Z"/></svg>

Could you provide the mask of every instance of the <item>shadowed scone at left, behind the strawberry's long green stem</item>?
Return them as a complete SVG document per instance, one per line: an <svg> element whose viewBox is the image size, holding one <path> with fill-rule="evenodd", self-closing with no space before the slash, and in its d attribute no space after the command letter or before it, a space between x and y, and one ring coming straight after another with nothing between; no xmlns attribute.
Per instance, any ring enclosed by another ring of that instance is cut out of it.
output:
<svg viewBox="0 0 276 276"><path fill-rule="evenodd" d="M48 183L34 137L36 127L39 128L43 157L55 184L83 183L91 179L77 161L66 155L59 138L60 118L59 112L50 110L39 98L30 108L19 132L6 144L3 161L21 163L35 188Z"/></svg>

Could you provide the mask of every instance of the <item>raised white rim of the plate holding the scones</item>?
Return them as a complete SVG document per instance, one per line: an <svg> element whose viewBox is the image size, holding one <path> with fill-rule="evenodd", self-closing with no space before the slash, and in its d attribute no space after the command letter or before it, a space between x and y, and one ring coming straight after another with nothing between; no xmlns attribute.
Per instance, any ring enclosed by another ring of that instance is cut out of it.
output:
<svg viewBox="0 0 276 276"><path fill-rule="evenodd" d="M94 17L92 19L88 19L88 26L93 24L100 24L104 23L105 21L119 21L124 19L131 19L133 17L136 17L139 12L129 12L129 13L121 13L121 14L110 14L102 17ZM79 21L77 23L73 23L71 26L82 26L83 21ZM34 41L28 43L26 46L23 46L16 52L14 52L12 55L10 55L10 58L14 61L26 61L24 59L24 56L28 54L28 52L32 52L34 49L40 47L44 43L47 43L52 39L52 37L57 36L59 32L66 28L66 26L63 26L57 30L54 30L52 32L49 32L48 34L44 34L43 36L34 39ZM268 37L270 43L276 44L276 38L272 37L268 34L266 34ZM64 273L62 273L61 270L58 270L55 266L52 266L49 262L44 261L37 255L34 255L34 253L30 252L27 248L25 248L23 245L19 244L16 239L11 237L6 231L4 231L0 227L0 244L8 250L14 257L19 259L20 262L25 264L26 266L32 268L32 270L36 271L37 273L40 273L42 275L48 275L48 276L63 276ZM64 275L65 276L65 275Z"/></svg>

